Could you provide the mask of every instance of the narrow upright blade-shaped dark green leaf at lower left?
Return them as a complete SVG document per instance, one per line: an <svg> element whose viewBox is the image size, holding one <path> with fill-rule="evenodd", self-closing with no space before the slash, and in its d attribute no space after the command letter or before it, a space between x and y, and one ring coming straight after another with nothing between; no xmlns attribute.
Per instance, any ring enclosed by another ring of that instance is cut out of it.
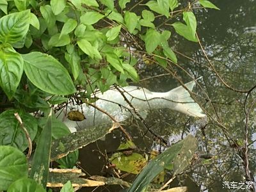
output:
<svg viewBox="0 0 256 192"><path fill-rule="evenodd" d="M52 112L50 112L44 129L36 145L31 163L30 178L35 179L44 189L46 188L52 143Z"/></svg>

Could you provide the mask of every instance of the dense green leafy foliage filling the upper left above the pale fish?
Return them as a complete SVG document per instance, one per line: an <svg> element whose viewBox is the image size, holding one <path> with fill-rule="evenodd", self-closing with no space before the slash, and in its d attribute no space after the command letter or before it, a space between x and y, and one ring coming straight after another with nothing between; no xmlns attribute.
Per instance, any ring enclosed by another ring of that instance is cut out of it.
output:
<svg viewBox="0 0 256 192"><path fill-rule="evenodd" d="M29 191L45 191L52 140L70 133L52 114L54 104L76 98L81 90L86 90L83 99L90 99L97 88L105 92L113 84L138 82L136 64L143 61L144 54L164 68L177 63L168 43L171 29L163 30L154 21L159 17L172 20L177 34L198 42L193 8L218 9L206 0L185 7L177 0L153 0L143 4L141 12L133 12L138 4L127 8L129 3L0 1L0 191L26 191L26 186ZM44 115L35 118L29 114L38 111ZM22 152L30 157L33 143L36 150L28 172ZM59 142L58 148L61 146ZM178 154L182 143L176 148L179 150L173 154ZM58 160L63 168L72 168L76 161L76 151ZM141 190L145 190L162 170L159 166L147 182L137 180L132 188L142 183ZM63 191L72 191L70 185L67 182Z"/></svg>

